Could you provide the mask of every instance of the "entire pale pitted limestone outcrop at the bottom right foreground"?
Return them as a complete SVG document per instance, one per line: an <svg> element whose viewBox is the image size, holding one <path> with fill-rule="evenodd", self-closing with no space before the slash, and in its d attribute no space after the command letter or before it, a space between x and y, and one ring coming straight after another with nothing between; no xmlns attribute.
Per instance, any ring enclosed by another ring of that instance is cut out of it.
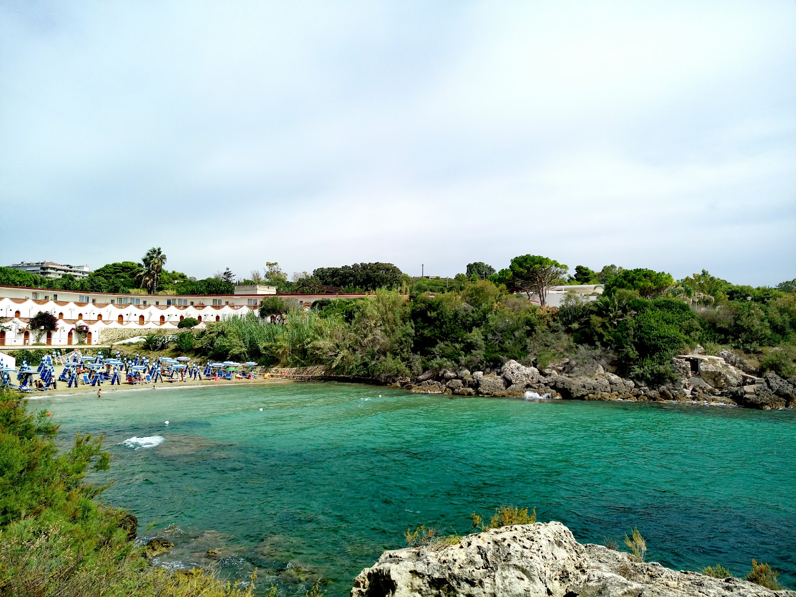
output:
<svg viewBox="0 0 796 597"><path fill-rule="evenodd" d="M513 525L456 544L384 552L354 579L352 597L796 597L741 579L638 563L579 544L560 522Z"/></svg>

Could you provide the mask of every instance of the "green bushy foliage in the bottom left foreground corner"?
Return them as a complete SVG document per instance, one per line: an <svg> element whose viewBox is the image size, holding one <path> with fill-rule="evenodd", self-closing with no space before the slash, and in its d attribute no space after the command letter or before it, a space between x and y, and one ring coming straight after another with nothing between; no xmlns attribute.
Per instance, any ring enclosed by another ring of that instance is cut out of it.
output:
<svg viewBox="0 0 796 597"><path fill-rule="evenodd" d="M252 595L201 570L151 568L122 524L86 482L106 470L102 437L76 435L59 452L58 426L21 400L0 396L0 595Z"/></svg>

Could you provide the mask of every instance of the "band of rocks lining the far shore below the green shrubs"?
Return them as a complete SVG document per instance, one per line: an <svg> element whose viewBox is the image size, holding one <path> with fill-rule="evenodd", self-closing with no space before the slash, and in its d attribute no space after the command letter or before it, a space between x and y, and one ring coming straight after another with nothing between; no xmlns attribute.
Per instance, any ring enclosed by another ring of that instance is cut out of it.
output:
<svg viewBox="0 0 796 597"><path fill-rule="evenodd" d="M740 369L742 363L728 351L718 357L704 354L675 357L672 366L677 380L654 388L619 377L602 365L596 365L589 374L575 367L568 370L567 365L564 361L540 371L508 361L494 371L427 371L417 377L399 377L390 385L410 392L454 396L536 395L566 400L677 401L762 410L796 407L796 378L782 379L776 373L756 377L754 372Z"/></svg>

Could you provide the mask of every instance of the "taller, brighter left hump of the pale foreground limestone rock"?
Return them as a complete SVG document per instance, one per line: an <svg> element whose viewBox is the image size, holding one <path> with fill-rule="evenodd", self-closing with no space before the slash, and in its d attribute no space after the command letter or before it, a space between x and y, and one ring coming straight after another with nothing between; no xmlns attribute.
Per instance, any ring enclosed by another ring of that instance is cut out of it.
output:
<svg viewBox="0 0 796 597"><path fill-rule="evenodd" d="M564 597L586 579L586 550L560 522L513 525L443 548L384 552L351 597Z"/></svg>

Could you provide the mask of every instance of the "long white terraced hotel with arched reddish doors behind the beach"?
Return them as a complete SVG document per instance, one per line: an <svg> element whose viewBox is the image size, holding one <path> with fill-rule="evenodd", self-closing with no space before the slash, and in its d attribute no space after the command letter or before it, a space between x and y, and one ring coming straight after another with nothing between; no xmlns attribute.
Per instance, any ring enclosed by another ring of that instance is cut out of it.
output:
<svg viewBox="0 0 796 597"><path fill-rule="evenodd" d="M200 328L230 315L256 310L271 286L238 286L234 295L118 295L47 288L0 287L0 346L108 344L160 330L177 334L178 324L195 318ZM295 298L305 308L319 298L361 298L366 295L279 295ZM58 318L54 332L29 329L40 312ZM80 334L80 331L85 332Z"/></svg>

